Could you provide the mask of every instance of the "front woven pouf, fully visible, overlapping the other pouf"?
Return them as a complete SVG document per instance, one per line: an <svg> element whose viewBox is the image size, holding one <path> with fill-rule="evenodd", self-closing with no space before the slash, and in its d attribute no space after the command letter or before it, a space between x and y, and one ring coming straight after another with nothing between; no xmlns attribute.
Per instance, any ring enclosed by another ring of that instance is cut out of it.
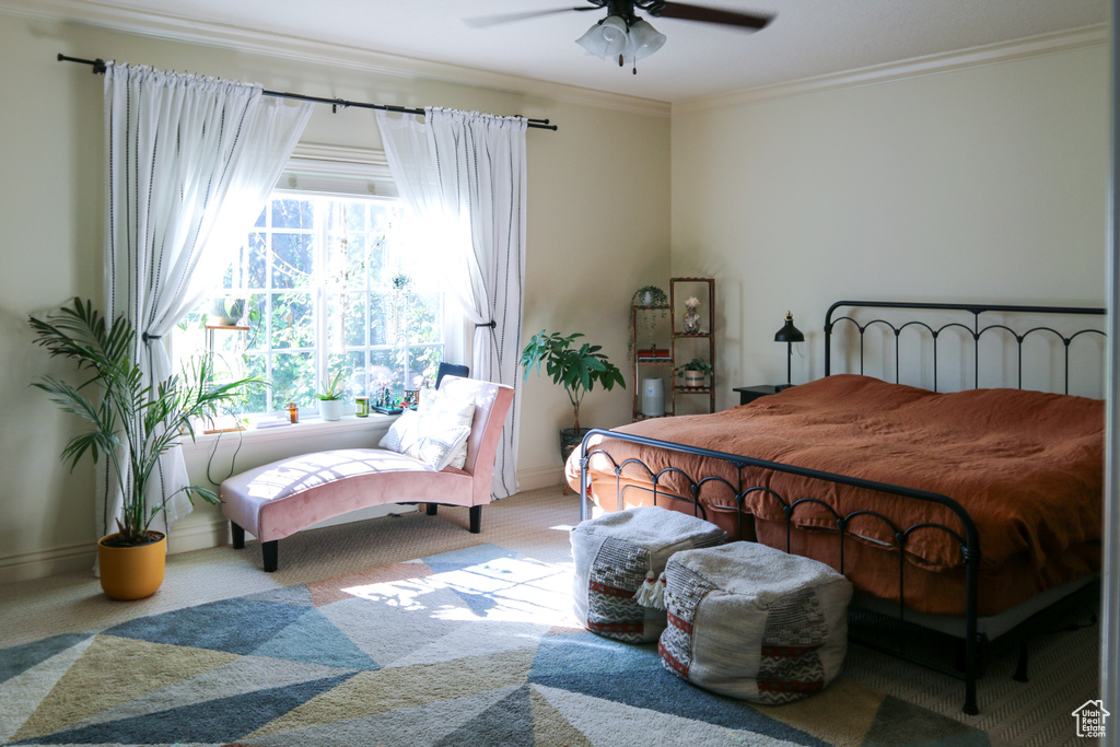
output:
<svg viewBox="0 0 1120 747"><path fill-rule="evenodd" d="M819 692L848 648L851 583L824 563L754 542L674 554L662 664L707 690L778 704Z"/></svg>

